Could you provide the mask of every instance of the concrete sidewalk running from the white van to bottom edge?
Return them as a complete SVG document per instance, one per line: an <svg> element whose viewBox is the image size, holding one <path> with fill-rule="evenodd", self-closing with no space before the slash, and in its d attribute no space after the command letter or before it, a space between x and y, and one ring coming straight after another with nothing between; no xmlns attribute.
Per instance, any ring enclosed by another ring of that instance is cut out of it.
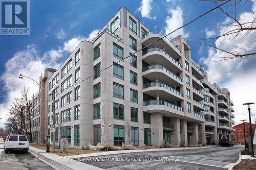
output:
<svg viewBox="0 0 256 170"><path fill-rule="evenodd" d="M92 170L100 170L102 168L89 165L86 163L82 163L67 157L59 156L52 153L46 153L44 150L40 150L34 147L29 147L29 152L35 155L36 158L40 159L42 162L52 166L57 170L82 170L82 169L92 169Z"/></svg>

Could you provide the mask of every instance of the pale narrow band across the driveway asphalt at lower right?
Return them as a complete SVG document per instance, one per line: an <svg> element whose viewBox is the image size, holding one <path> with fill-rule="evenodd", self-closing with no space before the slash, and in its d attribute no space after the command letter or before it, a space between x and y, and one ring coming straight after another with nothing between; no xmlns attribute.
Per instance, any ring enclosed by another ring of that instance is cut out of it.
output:
<svg viewBox="0 0 256 170"><path fill-rule="evenodd" d="M216 160L199 159L199 158L191 158L191 157L183 157L183 156L169 156L169 157L178 158L177 161L180 161L180 162L187 162L187 163L194 163L194 164L222 167L222 168L231 164L231 162L222 162L222 161L216 161ZM169 158L169 157L165 157L165 158Z"/></svg>

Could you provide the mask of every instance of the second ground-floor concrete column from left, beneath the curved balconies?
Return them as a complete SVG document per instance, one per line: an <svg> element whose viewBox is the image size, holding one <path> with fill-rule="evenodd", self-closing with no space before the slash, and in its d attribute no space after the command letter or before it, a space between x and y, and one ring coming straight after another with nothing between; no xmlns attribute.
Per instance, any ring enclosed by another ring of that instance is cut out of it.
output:
<svg viewBox="0 0 256 170"><path fill-rule="evenodd" d="M174 131L170 132L170 144L180 144L180 118L170 118L170 123L174 124Z"/></svg>

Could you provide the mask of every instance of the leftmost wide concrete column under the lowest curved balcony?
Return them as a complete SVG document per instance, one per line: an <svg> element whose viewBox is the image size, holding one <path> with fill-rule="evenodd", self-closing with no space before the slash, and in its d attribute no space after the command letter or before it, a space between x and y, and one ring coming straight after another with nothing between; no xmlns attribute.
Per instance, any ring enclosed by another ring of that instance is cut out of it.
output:
<svg viewBox="0 0 256 170"><path fill-rule="evenodd" d="M163 143L163 116L162 113L151 114L151 139L152 144Z"/></svg>

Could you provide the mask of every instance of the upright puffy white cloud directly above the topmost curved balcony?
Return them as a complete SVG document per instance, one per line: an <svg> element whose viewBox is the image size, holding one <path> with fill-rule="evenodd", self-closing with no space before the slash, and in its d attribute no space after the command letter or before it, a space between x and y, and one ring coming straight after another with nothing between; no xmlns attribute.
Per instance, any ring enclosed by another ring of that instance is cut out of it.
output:
<svg viewBox="0 0 256 170"><path fill-rule="evenodd" d="M180 7L176 7L176 9L169 9L168 14L171 14L172 16L167 16L165 19L165 35L183 26L183 10ZM185 34L183 28L181 28L170 34L168 38L172 39L178 35L182 35L184 38L188 37L188 33Z"/></svg>

